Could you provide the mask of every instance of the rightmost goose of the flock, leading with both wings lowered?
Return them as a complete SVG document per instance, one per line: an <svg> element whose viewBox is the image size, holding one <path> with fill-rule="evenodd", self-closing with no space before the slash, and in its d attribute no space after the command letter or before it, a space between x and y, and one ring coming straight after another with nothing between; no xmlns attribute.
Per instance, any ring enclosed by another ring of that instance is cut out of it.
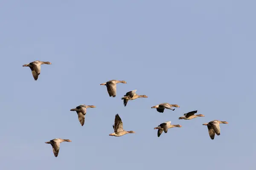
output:
<svg viewBox="0 0 256 170"><path fill-rule="evenodd" d="M218 136L221 134L221 128L220 128L221 123L228 124L228 122L226 121L219 121L219 120L213 120L211 122L203 124L208 127L208 133L212 140L214 139L215 133Z"/></svg>

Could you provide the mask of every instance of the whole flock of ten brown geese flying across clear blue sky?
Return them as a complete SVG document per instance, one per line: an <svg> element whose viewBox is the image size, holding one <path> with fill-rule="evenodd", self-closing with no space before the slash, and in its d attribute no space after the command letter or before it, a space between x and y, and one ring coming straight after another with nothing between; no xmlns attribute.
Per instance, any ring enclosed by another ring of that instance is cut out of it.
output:
<svg viewBox="0 0 256 170"><path fill-rule="evenodd" d="M23 65L23 67L29 67L32 71L32 75L33 75L34 79L37 80L38 76L41 73L41 65L42 64L52 64L52 63L51 62L43 62L43 61L34 61L34 62L30 62L28 64ZM117 83L126 83L126 82L119 81L119 80L110 80L110 81L102 83L100 85L107 86L107 91L108 91L108 94L110 97L111 96L116 97L116 84ZM137 95L136 91L137 90L129 91L124 95L124 97L121 98L124 102L124 106L127 105L129 100L134 100L134 99L138 99L141 97L143 97L143 98L148 97L146 95ZM172 107L180 108L180 106L178 106L178 105L170 105L169 103L162 103L162 104L153 106L151 108L156 108L159 113L163 113L163 111L165 109L174 111L175 108L173 109ZM79 105L76 108L73 108L70 110L70 111L76 111L81 126L84 125L84 116L86 115L87 108L96 108L96 107L93 105ZM195 113L197 113L197 111L190 111L188 113L185 113L184 116L179 117L179 119L190 120L190 119L194 119L196 117L204 117L204 115L202 115L202 114L195 115ZM215 133L218 136L221 134L220 133L220 131L221 131L220 124L221 123L228 124L228 122L226 122L226 121L219 121L219 120L213 120L211 122L203 124L203 125L207 125L208 133L212 140L214 139ZM181 125L171 125L171 121L169 121L169 122L161 123L157 127L154 127L154 129L157 129L157 136L160 137L160 135L163 133L163 131L164 131L164 133L167 133L168 129L172 128L172 127L182 127L182 126ZM115 116L115 122L113 125L113 129L114 129L114 133L109 134L109 136L123 136L127 133L135 133L134 131L126 131L123 129L122 119L120 118L120 116L118 114L116 114L116 116ZM53 154L55 157L58 156L61 142L71 142L71 140L58 138L58 139L52 139L49 142L45 142L47 144L52 145L52 150L53 150Z"/></svg>

